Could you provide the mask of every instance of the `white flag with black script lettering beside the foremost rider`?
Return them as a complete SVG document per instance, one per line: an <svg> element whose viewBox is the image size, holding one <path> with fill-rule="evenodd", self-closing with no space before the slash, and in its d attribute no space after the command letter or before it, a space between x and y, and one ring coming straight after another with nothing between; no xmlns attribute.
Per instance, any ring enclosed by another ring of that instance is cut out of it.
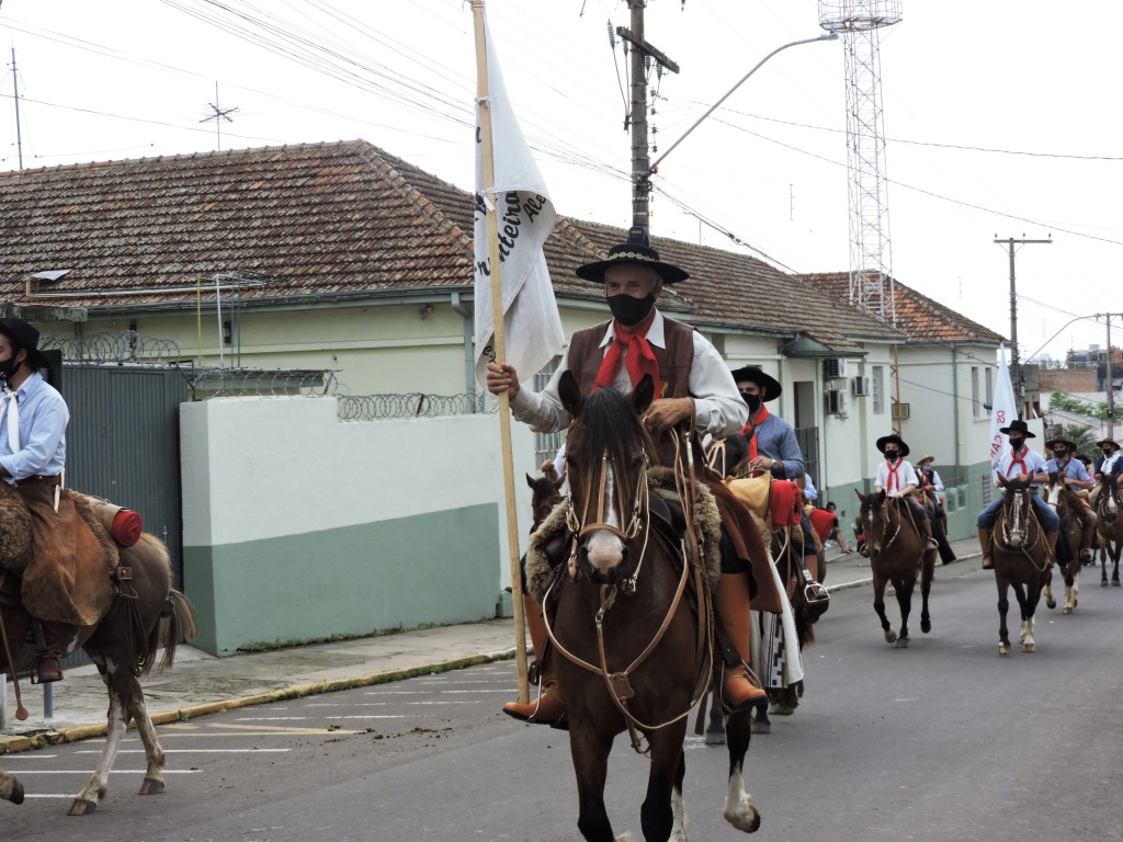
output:
<svg viewBox="0 0 1123 842"><path fill-rule="evenodd" d="M484 383L487 363L495 360L491 273L485 203L495 208L500 281L503 290L503 337L506 361L528 381L562 349L565 336L554 300L542 244L557 213L538 165L511 110L503 74L484 19L487 53L487 99L492 125L495 184L484 184L483 143L476 108L475 322L476 379Z"/></svg>

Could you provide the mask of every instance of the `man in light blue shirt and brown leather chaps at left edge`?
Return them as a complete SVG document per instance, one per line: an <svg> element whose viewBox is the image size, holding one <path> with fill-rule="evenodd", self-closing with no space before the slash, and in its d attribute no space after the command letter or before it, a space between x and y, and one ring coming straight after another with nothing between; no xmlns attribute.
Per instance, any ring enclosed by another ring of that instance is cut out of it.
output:
<svg viewBox="0 0 1123 842"><path fill-rule="evenodd" d="M39 331L22 319L0 322L0 477L13 485L31 515L34 553L22 574L24 604L35 617L40 683L62 679L61 661L77 625L98 619L75 587L74 503L62 494L70 412L39 374L49 364ZM108 574L108 571L107 571ZM109 593L109 577L104 589Z"/></svg>

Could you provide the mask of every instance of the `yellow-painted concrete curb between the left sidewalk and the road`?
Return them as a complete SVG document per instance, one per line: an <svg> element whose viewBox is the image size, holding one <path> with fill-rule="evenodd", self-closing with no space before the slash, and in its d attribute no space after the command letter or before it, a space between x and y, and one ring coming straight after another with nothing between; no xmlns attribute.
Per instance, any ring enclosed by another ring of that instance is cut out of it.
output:
<svg viewBox="0 0 1123 842"><path fill-rule="evenodd" d="M152 714L155 725L166 725L170 722L188 722L198 716L206 716L222 711L232 711L250 705L268 704L271 702L284 702L292 698L303 698L305 696L318 696L323 693L335 693L337 690L349 690L356 687L371 687L378 684L401 681L405 678L417 678L418 676L431 675L435 672L451 672L456 669L475 667L481 663L492 663L494 661L510 660L514 658L514 647L495 652L484 652L464 658L453 658L439 663L428 663L407 669L392 669L384 672L371 672L364 676L350 676L348 678L334 678L325 681L312 681L309 684L296 684L291 687L282 687L267 693L257 693L252 696L234 696L220 702L208 702L188 707L180 707L174 711L161 711ZM136 725L130 721L129 729L135 730ZM58 731L44 731L38 734L20 734L18 736L0 736L0 754L13 754L19 751L33 751L45 749L60 743L79 742L95 736L104 736L108 731L108 723L97 725L75 725L74 727L61 729Z"/></svg>

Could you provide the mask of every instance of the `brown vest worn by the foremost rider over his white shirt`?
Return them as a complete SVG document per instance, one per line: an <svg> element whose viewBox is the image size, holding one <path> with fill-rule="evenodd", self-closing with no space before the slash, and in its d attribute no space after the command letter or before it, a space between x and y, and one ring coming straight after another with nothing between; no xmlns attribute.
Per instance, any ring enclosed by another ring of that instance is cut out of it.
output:
<svg viewBox="0 0 1123 842"><path fill-rule="evenodd" d="M604 351L600 347L610 322L578 330L569 340L569 370L577 378L577 385L585 394L593 391L596 374L601 370ZM659 377L664 383L663 394L656 397L693 397L690 392L691 364L694 361L694 328L681 321L663 319L665 348L651 346L651 353L659 364ZM675 465L675 443L672 438L659 432L654 436L659 463L667 467ZM694 448L695 466L704 464L702 450ZM696 467L696 469L699 469Z"/></svg>

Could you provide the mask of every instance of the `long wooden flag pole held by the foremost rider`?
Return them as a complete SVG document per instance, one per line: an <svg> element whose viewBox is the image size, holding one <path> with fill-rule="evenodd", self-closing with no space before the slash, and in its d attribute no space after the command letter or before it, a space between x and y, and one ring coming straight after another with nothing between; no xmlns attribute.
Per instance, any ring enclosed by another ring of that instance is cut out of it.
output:
<svg viewBox="0 0 1123 842"><path fill-rule="evenodd" d="M495 163L492 157L491 111L487 99L487 45L484 37L483 0L472 0L472 17L476 35L476 108L480 113L480 143L483 146L483 189L495 186ZM503 336L503 286L500 283L499 223L494 202L486 201L487 263L491 267L492 320L495 329L495 361L506 361L506 340ZM503 450L503 496L506 500L506 546L511 562L511 602L514 608L514 656L519 671L519 702L530 699L527 681L527 632L522 611L522 576L519 569L519 518L514 507L514 458L511 448L511 399L506 392L499 395L499 429Z"/></svg>

